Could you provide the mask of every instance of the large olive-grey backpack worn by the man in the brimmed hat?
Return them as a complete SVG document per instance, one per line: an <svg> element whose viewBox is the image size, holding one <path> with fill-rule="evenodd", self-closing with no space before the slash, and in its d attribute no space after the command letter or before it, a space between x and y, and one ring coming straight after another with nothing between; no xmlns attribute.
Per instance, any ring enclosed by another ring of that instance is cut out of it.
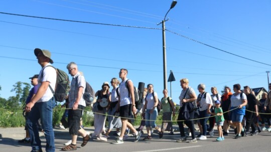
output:
<svg viewBox="0 0 271 152"><path fill-rule="evenodd" d="M48 65L48 66L52 66L52 65ZM54 67L54 66L52 66L52 67ZM44 68L43 68L43 70L44 70ZM55 87L55 89L53 89L51 85L49 85L49 87L50 87L52 93L54 94L55 100L58 102L62 102L67 98L67 96L68 96L67 94L70 90L69 76L66 72L64 72L61 69L55 68L55 70L57 73L56 87ZM43 77L43 71L42 71L42 77Z"/></svg>

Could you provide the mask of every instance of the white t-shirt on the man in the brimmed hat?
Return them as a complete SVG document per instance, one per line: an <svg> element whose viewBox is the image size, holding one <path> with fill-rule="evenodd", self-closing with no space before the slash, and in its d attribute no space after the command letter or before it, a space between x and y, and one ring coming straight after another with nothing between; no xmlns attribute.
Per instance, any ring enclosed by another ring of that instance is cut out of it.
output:
<svg viewBox="0 0 271 152"><path fill-rule="evenodd" d="M50 86L52 87L53 90L55 90L56 77L57 77L56 69L48 65L51 65L51 64L48 63L41 69L39 73L39 77L38 77L38 82L39 82L38 85L40 87L42 82L49 81ZM52 90L50 89L50 86L48 86L45 94L37 102L47 102L49 99L51 99L54 96Z"/></svg>

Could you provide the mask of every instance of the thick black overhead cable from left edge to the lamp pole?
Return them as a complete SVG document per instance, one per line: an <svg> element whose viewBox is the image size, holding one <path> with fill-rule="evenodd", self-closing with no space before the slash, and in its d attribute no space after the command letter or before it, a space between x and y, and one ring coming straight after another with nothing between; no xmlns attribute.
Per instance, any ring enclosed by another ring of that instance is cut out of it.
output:
<svg viewBox="0 0 271 152"><path fill-rule="evenodd" d="M89 21L79 21L79 20L70 20L70 19L49 18L49 17L32 16L32 15L23 15L23 14L8 13L8 12L0 12L0 13L8 14L8 15L24 16L24 17L33 17L33 18L41 18L41 19L52 19L52 20L61 20L61 21L70 21L70 22L80 22L80 23L89 23L89 24L100 24L100 25L111 25L111 26L133 27L133 28L147 28L147 29L162 29L162 28L154 28L154 27L142 27L142 26L131 26L131 25L120 25L120 24L108 24L108 23L89 22Z"/></svg>

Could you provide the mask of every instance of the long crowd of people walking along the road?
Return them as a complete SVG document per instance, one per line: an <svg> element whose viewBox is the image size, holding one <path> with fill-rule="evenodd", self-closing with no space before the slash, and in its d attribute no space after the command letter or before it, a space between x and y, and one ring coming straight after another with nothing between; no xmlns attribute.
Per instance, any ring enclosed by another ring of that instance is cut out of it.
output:
<svg viewBox="0 0 271 152"><path fill-rule="evenodd" d="M26 114L26 138L19 142L30 142L32 151L42 151L39 137L39 119L42 130L46 138L46 151L55 151L54 131L52 125L53 108L56 105L54 93L51 88L56 85L56 70L51 66L53 60L48 50L36 48L34 50L42 69L39 74L30 77L32 85L27 104ZM80 124L83 109L86 107L83 94L86 81L82 72L79 72L75 62L67 65L68 73L72 76L68 98L66 99L63 118L67 117L67 125L71 140L62 148L64 151L77 149L78 134L83 137L81 146L85 146L90 138L107 141L109 133L113 128L118 131L117 138L112 144L121 144L128 138L128 133L134 135L134 142L140 140L143 128L146 126L147 135L144 140L152 140L153 132L159 133L159 138L163 138L164 132L169 131L174 134L172 116L177 113L173 99L168 95L168 90L163 90L161 105L163 107L162 126L156 124L158 116L158 106L160 99L158 92L154 91L154 85L148 84L144 89L140 103L142 109L137 109L135 105L133 82L127 78L128 70L121 68L119 71L119 81L113 77L110 81L112 89L107 81L103 82L101 89L95 93L97 101L92 105L94 112L94 131L89 134ZM229 128L234 128L234 138L239 139L245 135L256 135L260 131L271 131L271 92L262 93L258 101L249 86L244 86L241 91L240 84L231 88L225 86L223 94L219 94L216 87L211 87L211 93L205 90L205 84L198 85L198 95L189 86L189 80L180 80L182 87L179 96L180 109L178 111L178 126L180 138L177 142L197 142L206 140L209 133L214 136L214 126L217 125L217 141L224 140L224 136L229 133ZM271 83L269 84L271 88ZM106 113L108 127L105 128ZM133 117L141 113L143 118L139 128L134 128ZM209 121L209 124L207 123ZM265 122L267 121L267 125ZM261 125L258 124L261 123ZM199 127L199 134L196 135L195 124ZM189 133L185 132L185 125ZM251 131L249 132L249 129ZM154 130L155 129L155 130ZM188 139L191 136L191 139Z"/></svg>

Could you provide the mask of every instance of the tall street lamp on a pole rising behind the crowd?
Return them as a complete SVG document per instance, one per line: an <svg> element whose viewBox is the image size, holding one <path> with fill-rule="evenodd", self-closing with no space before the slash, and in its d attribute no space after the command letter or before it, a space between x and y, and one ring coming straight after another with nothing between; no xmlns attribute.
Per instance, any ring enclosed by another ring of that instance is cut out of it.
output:
<svg viewBox="0 0 271 152"><path fill-rule="evenodd" d="M164 89L167 88L167 53L166 53L166 28L165 28L165 22L169 19L166 19L167 14L169 11L176 5L177 1L173 0L170 6L170 9L166 13L164 20L162 20L160 23L162 23L162 33L163 33L163 72L164 72Z"/></svg>

